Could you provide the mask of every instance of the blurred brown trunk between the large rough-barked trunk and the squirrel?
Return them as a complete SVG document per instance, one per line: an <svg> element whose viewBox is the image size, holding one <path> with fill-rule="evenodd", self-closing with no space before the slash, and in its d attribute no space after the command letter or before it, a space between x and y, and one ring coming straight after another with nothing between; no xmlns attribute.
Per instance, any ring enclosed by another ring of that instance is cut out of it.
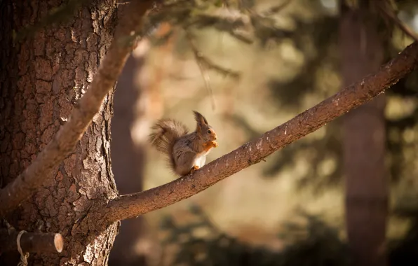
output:
<svg viewBox="0 0 418 266"><path fill-rule="evenodd" d="M137 114L135 107L142 109L147 104L145 90L137 82L137 77L144 64L144 57L136 58L130 55L118 80L114 100L114 118L112 127L112 162L116 184L121 194L130 194L143 190L145 149L143 144L137 144L131 134L135 120L145 123L145 110ZM144 99L142 99L144 98ZM121 221L119 235L114 242L110 254L109 265L147 265L146 254L138 248L141 241L146 241L144 218L138 217Z"/></svg>

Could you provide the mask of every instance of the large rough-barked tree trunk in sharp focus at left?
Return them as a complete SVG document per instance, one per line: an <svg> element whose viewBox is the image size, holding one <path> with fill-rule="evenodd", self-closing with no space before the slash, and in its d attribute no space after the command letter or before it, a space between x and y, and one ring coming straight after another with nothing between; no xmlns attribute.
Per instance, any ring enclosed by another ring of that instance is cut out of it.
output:
<svg viewBox="0 0 418 266"><path fill-rule="evenodd" d="M88 90L112 41L115 1L92 1L65 25L41 29L12 45L13 31L34 25L62 1L1 1L0 173L5 186L22 172L65 123ZM110 167L113 92L72 155L7 220L17 230L60 232L62 253L31 253L30 265L106 265L118 223L95 235L95 223L77 228L94 200L117 195ZM76 233L77 232L77 233ZM97 232L97 231L96 231ZM0 265L16 265L17 261Z"/></svg>

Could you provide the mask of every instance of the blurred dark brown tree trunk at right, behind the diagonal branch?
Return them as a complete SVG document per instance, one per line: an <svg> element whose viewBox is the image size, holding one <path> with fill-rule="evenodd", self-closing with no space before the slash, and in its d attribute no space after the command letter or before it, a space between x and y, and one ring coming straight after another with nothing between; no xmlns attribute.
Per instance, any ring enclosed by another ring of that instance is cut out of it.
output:
<svg viewBox="0 0 418 266"><path fill-rule="evenodd" d="M368 6L353 10L342 5L343 87L377 71L382 64L384 50L374 19ZM384 106L385 98L381 94L344 117L346 227L356 266L386 265L388 194Z"/></svg>

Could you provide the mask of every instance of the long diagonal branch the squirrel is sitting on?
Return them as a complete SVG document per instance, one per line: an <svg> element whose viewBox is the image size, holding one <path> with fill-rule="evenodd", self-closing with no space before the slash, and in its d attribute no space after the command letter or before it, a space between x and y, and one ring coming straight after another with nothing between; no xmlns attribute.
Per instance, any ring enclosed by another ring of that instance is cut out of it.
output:
<svg viewBox="0 0 418 266"><path fill-rule="evenodd" d="M318 130L326 123L348 111L369 102L391 85L410 73L418 64L418 43L412 43L403 52L370 76L363 78L332 97L325 99L292 120L262 134L205 167L163 186L144 192L123 195L99 210L104 223L110 224L161 209L191 197L222 179L260 162L271 153Z"/></svg>

